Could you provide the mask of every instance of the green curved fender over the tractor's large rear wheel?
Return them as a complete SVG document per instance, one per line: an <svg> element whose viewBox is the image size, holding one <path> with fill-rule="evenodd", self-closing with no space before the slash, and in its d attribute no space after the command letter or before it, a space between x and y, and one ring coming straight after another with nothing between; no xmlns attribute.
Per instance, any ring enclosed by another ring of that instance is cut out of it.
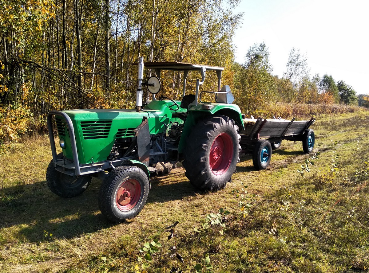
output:
<svg viewBox="0 0 369 273"><path fill-rule="evenodd" d="M202 105L211 105L211 109L203 109ZM184 123L183 132L178 145L178 153L182 153L186 147L187 139L192 132L193 127L204 118L211 115L223 115L233 119L239 129L245 129L242 122L241 109L235 104L199 104L192 106L188 110L186 122Z"/></svg>

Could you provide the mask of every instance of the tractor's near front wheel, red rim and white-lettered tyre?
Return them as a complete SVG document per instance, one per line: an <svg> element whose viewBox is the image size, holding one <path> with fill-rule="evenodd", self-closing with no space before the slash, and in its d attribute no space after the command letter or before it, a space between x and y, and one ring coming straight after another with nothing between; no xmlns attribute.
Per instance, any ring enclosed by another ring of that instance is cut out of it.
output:
<svg viewBox="0 0 369 273"><path fill-rule="evenodd" d="M113 169L100 186L101 213L115 223L134 218L146 204L149 185L149 178L139 167Z"/></svg>

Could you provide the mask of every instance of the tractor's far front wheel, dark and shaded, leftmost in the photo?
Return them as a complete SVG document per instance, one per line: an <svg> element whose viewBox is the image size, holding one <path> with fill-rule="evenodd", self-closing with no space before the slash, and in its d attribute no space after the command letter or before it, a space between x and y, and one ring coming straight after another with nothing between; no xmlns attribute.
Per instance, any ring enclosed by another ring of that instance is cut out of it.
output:
<svg viewBox="0 0 369 273"><path fill-rule="evenodd" d="M63 154L58 154L57 158L63 158ZM73 177L58 172L52 160L46 171L46 182L49 189L56 195L65 198L75 197L83 193L90 185L91 179L91 176L81 175L79 177Z"/></svg>

